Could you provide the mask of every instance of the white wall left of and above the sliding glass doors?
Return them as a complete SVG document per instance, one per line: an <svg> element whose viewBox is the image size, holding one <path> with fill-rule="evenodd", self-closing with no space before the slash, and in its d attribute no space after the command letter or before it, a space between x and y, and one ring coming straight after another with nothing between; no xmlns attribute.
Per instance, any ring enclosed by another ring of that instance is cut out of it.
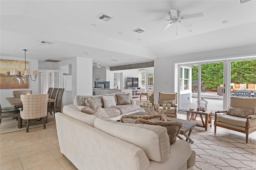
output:
<svg viewBox="0 0 256 170"><path fill-rule="evenodd" d="M245 58L246 56L254 56L252 60L256 59L256 44L181 56L157 58L154 60L154 101L158 101L159 92L176 92L175 86L177 86L177 84L175 84L175 79L177 75L174 74L174 65L176 63L227 60L231 58Z"/></svg>

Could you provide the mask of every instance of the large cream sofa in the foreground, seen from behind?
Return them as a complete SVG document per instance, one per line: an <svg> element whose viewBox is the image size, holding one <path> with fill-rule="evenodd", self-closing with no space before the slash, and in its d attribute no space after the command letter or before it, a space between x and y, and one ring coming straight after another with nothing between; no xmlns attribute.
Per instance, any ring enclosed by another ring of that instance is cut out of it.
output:
<svg viewBox="0 0 256 170"><path fill-rule="evenodd" d="M116 122L67 105L56 113L61 153L79 170L193 170L185 140L170 145L166 128Z"/></svg>

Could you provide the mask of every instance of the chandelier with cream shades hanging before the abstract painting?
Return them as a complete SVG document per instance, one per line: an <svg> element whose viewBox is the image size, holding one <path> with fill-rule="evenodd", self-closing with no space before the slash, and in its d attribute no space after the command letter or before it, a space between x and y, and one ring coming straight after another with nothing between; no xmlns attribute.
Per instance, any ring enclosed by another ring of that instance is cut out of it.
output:
<svg viewBox="0 0 256 170"><path fill-rule="evenodd" d="M31 78L32 81L36 81L36 78L38 76L38 71L33 71L33 78L32 76L30 75L30 72L29 70L26 70L26 51L25 49L21 49L21 50L24 50L25 52L25 70L24 71L21 71L21 73L19 74L18 70L10 70L10 76L12 76L13 80L14 81L18 81L19 84L20 84L20 81L24 81L24 84L26 84L26 81L29 80L29 76Z"/></svg>

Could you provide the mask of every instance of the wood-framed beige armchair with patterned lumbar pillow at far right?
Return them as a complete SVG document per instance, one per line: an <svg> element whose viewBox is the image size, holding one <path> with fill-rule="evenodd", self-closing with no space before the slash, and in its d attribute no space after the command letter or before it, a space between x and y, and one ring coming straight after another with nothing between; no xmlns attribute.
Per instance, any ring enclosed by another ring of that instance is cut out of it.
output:
<svg viewBox="0 0 256 170"><path fill-rule="evenodd" d="M231 96L228 110L215 112L214 133L216 134L216 126L242 132L246 134L246 143L248 143L248 134L256 131L255 112L256 98Z"/></svg>

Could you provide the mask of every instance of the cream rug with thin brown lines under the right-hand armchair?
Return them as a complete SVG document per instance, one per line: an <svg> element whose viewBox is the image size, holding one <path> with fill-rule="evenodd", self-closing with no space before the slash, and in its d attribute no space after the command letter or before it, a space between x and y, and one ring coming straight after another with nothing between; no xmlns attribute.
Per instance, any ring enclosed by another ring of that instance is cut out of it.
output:
<svg viewBox="0 0 256 170"><path fill-rule="evenodd" d="M252 170L256 169L256 133L249 134L248 144L245 134L214 126L208 131L195 127L190 144L196 151L194 170Z"/></svg>

